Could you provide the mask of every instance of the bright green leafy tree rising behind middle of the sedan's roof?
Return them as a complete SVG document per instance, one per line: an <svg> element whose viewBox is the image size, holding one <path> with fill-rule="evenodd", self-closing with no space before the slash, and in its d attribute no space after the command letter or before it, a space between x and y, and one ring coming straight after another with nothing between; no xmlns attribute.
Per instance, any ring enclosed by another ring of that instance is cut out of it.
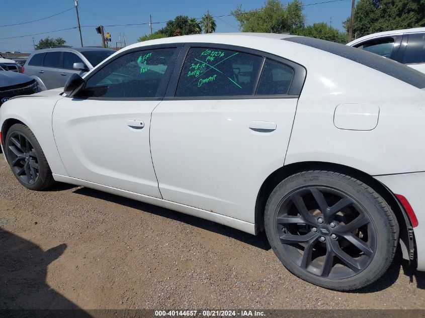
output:
<svg viewBox="0 0 425 318"><path fill-rule="evenodd" d="M302 29L305 23L299 0L293 0L287 6L280 0L267 0L264 7L258 10L244 11L239 6L231 14L239 22L242 32L292 32Z"/></svg>

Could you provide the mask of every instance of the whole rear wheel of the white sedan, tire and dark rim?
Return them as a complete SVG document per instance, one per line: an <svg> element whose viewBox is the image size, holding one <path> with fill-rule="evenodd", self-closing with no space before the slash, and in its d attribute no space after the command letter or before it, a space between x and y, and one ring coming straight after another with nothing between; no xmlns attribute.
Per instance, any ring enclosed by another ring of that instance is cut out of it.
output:
<svg viewBox="0 0 425 318"><path fill-rule="evenodd" d="M362 181L332 171L304 171L280 182L264 221L283 265L327 289L373 283L390 266L398 242L388 203Z"/></svg>

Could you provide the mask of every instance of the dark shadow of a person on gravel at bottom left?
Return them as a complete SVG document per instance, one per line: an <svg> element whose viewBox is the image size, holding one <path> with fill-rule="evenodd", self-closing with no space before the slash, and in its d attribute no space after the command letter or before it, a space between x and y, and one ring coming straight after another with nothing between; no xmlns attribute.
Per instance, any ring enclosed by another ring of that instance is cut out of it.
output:
<svg viewBox="0 0 425 318"><path fill-rule="evenodd" d="M47 266L65 249L66 244L60 244L44 252L0 228L0 315L8 309L13 311L7 316L18 314L16 309L79 309L46 283ZM91 315L78 310L78 317Z"/></svg>

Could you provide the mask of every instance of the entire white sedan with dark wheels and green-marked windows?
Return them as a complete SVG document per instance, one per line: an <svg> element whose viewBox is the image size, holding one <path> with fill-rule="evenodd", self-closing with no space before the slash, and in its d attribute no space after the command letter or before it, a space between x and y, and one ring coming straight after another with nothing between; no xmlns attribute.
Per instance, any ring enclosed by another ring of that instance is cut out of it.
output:
<svg viewBox="0 0 425 318"><path fill-rule="evenodd" d="M63 92L7 101L0 140L29 189L67 182L266 231L292 273L350 290L398 245L425 270L424 87L409 67L312 38L165 38Z"/></svg>

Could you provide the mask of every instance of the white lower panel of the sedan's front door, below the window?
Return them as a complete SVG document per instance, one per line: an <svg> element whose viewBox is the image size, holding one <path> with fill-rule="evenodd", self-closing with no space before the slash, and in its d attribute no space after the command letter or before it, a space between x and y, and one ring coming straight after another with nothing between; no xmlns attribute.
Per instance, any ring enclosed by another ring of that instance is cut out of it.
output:
<svg viewBox="0 0 425 318"><path fill-rule="evenodd" d="M59 100L53 133L67 175L160 198L149 150L150 116L158 103ZM144 127L130 127L133 120Z"/></svg>

